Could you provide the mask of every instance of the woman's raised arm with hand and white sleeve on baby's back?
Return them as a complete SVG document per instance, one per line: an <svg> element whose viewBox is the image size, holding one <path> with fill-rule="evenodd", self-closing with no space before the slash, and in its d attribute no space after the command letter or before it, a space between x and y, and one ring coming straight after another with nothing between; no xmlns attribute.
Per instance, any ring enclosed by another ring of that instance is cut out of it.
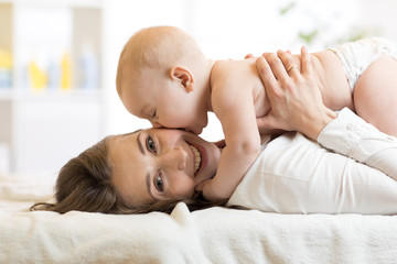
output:
<svg viewBox="0 0 397 264"><path fill-rule="evenodd" d="M261 125L297 130L324 147L379 169L397 180L397 139L379 132L348 109L336 113L328 109L312 76L310 56L302 48L302 73L291 68L285 52L265 54L257 61L258 72L271 103ZM259 123L259 122L258 122Z"/></svg>

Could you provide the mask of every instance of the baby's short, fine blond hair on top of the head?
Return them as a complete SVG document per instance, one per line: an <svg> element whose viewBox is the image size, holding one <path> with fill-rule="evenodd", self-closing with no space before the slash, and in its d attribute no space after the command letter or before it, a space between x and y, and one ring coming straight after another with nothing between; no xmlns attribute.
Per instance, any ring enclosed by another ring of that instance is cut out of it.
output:
<svg viewBox="0 0 397 264"><path fill-rule="evenodd" d="M124 46L117 67L116 87L121 92L122 73L126 65L140 74L144 67L163 69L168 74L173 66L189 66L204 54L195 40L174 26L146 28L135 33ZM130 74L130 73L129 73Z"/></svg>

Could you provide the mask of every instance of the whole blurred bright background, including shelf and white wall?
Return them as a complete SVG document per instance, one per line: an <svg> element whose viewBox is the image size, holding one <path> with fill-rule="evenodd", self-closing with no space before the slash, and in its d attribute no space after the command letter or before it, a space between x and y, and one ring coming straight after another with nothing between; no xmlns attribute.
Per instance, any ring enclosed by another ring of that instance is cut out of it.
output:
<svg viewBox="0 0 397 264"><path fill-rule="evenodd" d="M56 173L105 135L149 128L117 97L124 44L175 25L213 59L397 42L394 0L0 0L0 174ZM213 114L202 134L223 138Z"/></svg>

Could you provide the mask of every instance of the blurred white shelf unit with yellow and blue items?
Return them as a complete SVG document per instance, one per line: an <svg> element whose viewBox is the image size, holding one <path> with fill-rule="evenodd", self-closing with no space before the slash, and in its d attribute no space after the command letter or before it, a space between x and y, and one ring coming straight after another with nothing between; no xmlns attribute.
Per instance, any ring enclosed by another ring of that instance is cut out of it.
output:
<svg viewBox="0 0 397 264"><path fill-rule="evenodd" d="M0 142L11 173L56 172L104 138L101 4L0 0Z"/></svg>

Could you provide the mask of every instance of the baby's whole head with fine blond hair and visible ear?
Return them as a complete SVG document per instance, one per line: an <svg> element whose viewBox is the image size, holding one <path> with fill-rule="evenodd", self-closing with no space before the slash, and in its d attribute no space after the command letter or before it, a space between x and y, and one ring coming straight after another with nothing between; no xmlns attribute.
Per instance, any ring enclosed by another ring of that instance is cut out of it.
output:
<svg viewBox="0 0 397 264"><path fill-rule="evenodd" d="M154 127L196 134L207 124L203 68L207 59L196 42L173 26L147 28L125 45L117 69L117 92L136 117Z"/></svg>

